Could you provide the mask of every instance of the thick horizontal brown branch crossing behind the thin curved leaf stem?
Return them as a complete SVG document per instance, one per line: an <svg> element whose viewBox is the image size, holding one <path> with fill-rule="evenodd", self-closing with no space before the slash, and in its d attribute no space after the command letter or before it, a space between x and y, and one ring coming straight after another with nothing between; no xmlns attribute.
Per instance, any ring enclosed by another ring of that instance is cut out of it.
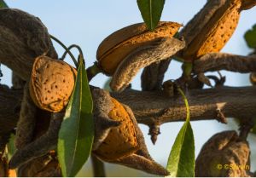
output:
<svg viewBox="0 0 256 178"><path fill-rule="evenodd" d="M131 107L138 123L152 125L181 121L186 117L183 99L179 95L168 98L160 92L135 90L112 95ZM251 118L256 115L256 87L193 89L186 95L191 120L218 118L217 109L225 117Z"/></svg>

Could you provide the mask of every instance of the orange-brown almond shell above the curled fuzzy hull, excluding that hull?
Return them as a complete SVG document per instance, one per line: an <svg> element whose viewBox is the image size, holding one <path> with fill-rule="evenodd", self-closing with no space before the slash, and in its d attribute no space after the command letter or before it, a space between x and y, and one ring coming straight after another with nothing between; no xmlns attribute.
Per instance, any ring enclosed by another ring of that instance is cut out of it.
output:
<svg viewBox="0 0 256 178"><path fill-rule="evenodd" d="M173 37L180 26L176 22L161 21L154 32L148 31L144 23L126 26L102 41L96 59L106 74L113 75L119 63L133 50L159 37Z"/></svg>

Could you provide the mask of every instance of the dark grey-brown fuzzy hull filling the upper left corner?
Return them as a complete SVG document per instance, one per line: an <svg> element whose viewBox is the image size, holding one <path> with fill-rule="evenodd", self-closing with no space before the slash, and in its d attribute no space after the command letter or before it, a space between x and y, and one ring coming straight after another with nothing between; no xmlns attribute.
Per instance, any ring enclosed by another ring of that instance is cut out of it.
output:
<svg viewBox="0 0 256 178"><path fill-rule="evenodd" d="M38 17L20 9L0 9L0 61L29 81L36 57L57 59L49 32Z"/></svg>

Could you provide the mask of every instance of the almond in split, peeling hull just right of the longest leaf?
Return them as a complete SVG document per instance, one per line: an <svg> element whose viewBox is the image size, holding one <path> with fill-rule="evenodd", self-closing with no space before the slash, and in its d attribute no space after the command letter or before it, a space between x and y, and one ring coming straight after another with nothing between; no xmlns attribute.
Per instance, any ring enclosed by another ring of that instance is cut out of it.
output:
<svg viewBox="0 0 256 178"><path fill-rule="evenodd" d="M96 134L104 133L100 143L94 143L93 153L97 158L113 164L122 164L154 175L169 175L169 172L156 163L148 153L143 133L129 106L119 103L103 89L94 89L94 109L96 109ZM102 108L98 111L99 108ZM106 113L106 115L105 115ZM119 122L109 127L109 120ZM107 123L107 125L106 125ZM104 126L105 124L105 126ZM100 131L105 129L105 131ZM108 130L107 130L108 129Z"/></svg>

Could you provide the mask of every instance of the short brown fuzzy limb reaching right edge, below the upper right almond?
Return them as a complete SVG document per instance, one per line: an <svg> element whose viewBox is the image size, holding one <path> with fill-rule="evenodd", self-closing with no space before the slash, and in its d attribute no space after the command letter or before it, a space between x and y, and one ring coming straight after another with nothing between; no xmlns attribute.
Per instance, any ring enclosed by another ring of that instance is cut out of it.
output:
<svg viewBox="0 0 256 178"><path fill-rule="evenodd" d="M256 72L256 55L242 56L224 53L210 53L195 60L194 72L214 72L227 70L231 72Z"/></svg>

